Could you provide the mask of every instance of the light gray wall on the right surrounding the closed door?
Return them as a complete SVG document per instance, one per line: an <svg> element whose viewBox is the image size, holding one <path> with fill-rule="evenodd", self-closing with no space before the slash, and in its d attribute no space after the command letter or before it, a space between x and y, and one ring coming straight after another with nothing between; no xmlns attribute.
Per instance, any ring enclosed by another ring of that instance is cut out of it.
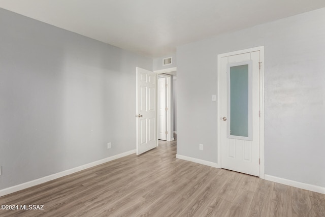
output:
<svg viewBox="0 0 325 217"><path fill-rule="evenodd" d="M178 47L177 153L217 163L217 55L262 45L265 173L325 187L325 8Z"/></svg>

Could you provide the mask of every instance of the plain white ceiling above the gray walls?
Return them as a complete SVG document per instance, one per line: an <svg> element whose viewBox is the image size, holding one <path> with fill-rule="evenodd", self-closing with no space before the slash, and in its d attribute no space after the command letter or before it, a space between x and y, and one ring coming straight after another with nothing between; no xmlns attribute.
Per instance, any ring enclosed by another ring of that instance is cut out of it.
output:
<svg viewBox="0 0 325 217"><path fill-rule="evenodd" d="M0 7L152 58L325 7L324 0L1 0Z"/></svg>

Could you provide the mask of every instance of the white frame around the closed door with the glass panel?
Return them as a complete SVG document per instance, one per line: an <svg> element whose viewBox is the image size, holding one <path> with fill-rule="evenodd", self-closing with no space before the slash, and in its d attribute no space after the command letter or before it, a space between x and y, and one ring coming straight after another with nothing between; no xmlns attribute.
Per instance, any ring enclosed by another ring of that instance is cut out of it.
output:
<svg viewBox="0 0 325 217"><path fill-rule="evenodd" d="M221 168L221 103L220 103L220 88L221 88L221 58L225 56L238 55L259 51L261 69L259 70L259 177L264 179L264 46L239 50L229 53L218 54L218 166Z"/></svg>

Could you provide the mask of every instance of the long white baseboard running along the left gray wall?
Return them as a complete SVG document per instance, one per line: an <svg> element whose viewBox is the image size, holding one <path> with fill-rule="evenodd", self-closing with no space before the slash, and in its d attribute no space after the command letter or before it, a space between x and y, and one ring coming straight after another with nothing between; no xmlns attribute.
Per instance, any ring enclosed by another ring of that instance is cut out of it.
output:
<svg viewBox="0 0 325 217"><path fill-rule="evenodd" d="M79 172L79 171L84 170L84 169L88 169L90 167L94 167L94 166L97 166L97 165L100 165L100 164L104 164L104 163L116 160L118 158L128 156L129 154L133 154L133 153L136 153L136 150L126 151L126 152L116 154L115 156L111 156L111 157L108 157L108 158L105 158L105 159L102 159L102 160L99 160L99 161L91 162L89 164L81 165L79 167L75 167L75 168L72 168L72 169L69 169L69 170L58 172L58 173L48 175L48 176L45 176L45 177L42 177L42 178L38 178L38 179L35 179L35 180L32 180L32 181L21 183L21 184L15 185L13 187L9 187L7 189L0 190L0 197L4 196L4 195L7 195L7 194L17 192L17 191L20 191L20 190L23 190L23 189L33 187L33 186L38 185L38 184L42 184L42 183L47 182L47 181L51 181L51 180L56 179L56 178L60 178L60 177L66 176L66 175L70 175L72 173Z"/></svg>

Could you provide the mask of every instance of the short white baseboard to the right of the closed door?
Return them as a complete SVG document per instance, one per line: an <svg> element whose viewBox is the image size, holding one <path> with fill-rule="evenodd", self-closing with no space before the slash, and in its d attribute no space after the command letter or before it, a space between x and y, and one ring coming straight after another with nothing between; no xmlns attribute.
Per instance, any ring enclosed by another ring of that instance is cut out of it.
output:
<svg viewBox="0 0 325 217"><path fill-rule="evenodd" d="M274 182L281 183L281 184L286 184L286 185L289 185L289 186L292 186L292 187L296 187L296 188L305 189L305 190L312 191L312 192L325 194L325 188L317 186L317 185L306 184L306 183L293 181L293 180L289 180L289 179L285 179L285 178L279 178L279 177L272 176L272 175L265 175L264 178L266 180L269 180L269 181L274 181Z"/></svg>

